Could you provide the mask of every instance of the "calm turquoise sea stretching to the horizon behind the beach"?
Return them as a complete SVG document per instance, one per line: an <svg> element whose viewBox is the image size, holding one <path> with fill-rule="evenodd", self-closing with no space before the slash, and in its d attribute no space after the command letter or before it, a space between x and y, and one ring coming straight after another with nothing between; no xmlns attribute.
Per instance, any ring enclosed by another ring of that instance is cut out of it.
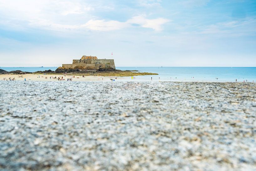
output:
<svg viewBox="0 0 256 171"><path fill-rule="evenodd" d="M55 71L57 67L0 67L6 71L21 70L36 72ZM120 70L138 70L159 75L136 76L133 80L150 81L219 81L219 82L255 82L256 67L116 67ZM127 77L126 79L131 79Z"/></svg>

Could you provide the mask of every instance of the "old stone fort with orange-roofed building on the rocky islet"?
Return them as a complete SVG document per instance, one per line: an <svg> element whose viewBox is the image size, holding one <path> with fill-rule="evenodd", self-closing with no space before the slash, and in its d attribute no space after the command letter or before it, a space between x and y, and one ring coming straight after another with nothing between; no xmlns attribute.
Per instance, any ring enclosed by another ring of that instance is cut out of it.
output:
<svg viewBox="0 0 256 171"><path fill-rule="evenodd" d="M115 62L113 59L98 59L96 56L82 56L81 59L73 59L72 64L62 64L65 69L74 68L113 68L115 67Z"/></svg>

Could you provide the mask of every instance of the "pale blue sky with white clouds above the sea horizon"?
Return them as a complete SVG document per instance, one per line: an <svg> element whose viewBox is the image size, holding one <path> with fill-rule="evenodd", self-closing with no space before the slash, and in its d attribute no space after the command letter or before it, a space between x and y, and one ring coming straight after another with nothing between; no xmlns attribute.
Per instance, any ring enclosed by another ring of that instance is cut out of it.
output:
<svg viewBox="0 0 256 171"><path fill-rule="evenodd" d="M256 0L0 0L0 67L83 55L117 67L256 67Z"/></svg>

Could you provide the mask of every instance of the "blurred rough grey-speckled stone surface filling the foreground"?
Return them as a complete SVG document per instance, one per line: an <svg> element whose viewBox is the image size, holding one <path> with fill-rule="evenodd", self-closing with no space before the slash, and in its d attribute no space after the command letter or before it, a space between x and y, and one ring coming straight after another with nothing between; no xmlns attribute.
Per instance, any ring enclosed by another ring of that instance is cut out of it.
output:
<svg viewBox="0 0 256 171"><path fill-rule="evenodd" d="M0 81L0 170L253 171L255 87Z"/></svg>

